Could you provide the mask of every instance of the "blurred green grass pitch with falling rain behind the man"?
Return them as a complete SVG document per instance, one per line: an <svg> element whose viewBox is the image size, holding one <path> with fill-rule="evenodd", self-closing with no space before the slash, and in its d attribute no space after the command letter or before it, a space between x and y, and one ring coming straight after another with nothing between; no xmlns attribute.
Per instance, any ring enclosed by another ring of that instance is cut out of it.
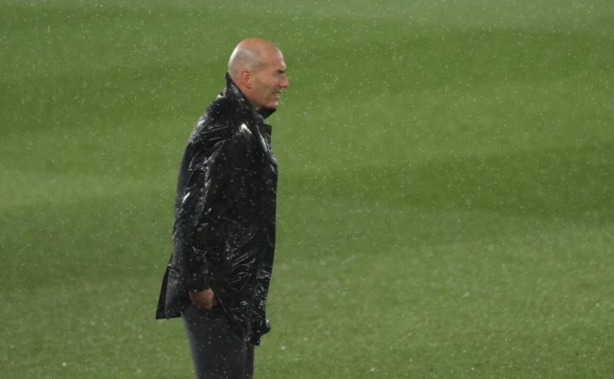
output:
<svg viewBox="0 0 614 379"><path fill-rule="evenodd" d="M0 376L192 378L179 159L244 37L278 246L256 378L614 372L611 1L1 1Z"/></svg>

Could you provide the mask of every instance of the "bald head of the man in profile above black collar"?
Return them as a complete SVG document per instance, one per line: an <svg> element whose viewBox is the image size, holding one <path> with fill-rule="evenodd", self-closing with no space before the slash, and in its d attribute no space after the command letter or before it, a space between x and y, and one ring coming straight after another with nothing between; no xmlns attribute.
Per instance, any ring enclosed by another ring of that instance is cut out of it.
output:
<svg viewBox="0 0 614 379"><path fill-rule="evenodd" d="M228 60L228 74L256 110L276 109L281 91L289 85L281 51L260 38L236 45Z"/></svg>

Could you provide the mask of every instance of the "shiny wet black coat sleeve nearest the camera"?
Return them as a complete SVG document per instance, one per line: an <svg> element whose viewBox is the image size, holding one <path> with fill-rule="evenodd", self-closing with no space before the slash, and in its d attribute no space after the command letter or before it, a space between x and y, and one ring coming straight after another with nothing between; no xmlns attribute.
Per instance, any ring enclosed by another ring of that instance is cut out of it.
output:
<svg viewBox="0 0 614 379"><path fill-rule="evenodd" d="M177 200L176 246L187 291L209 288L212 265L227 238L227 214L233 197L233 163L241 144L228 127L210 127L192 142L187 180Z"/></svg>

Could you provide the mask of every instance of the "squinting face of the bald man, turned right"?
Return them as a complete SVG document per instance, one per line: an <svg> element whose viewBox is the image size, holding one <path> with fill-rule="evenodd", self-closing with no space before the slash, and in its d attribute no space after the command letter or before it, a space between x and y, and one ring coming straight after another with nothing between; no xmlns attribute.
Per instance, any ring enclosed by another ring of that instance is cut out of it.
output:
<svg viewBox="0 0 614 379"><path fill-rule="evenodd" d="M253 72L253 87L249 99L256 109L277 109L279 95L288 87L286 76L286 62L279 50L266 52L262 56L262 66Z"/></svg>

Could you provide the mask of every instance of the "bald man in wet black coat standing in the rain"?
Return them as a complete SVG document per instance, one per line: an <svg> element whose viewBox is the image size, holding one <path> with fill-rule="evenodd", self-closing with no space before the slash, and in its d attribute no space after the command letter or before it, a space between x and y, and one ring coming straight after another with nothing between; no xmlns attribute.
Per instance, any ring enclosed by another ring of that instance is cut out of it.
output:
<svg viewBox="0 0 614 379"><path fill-rule="evenodd" d="M198 120L179 171L173 256L156 318L184 320L197 378L253 377L273 266L277 163L271 126L288 87L275 45L245 39Z"/></svg>

